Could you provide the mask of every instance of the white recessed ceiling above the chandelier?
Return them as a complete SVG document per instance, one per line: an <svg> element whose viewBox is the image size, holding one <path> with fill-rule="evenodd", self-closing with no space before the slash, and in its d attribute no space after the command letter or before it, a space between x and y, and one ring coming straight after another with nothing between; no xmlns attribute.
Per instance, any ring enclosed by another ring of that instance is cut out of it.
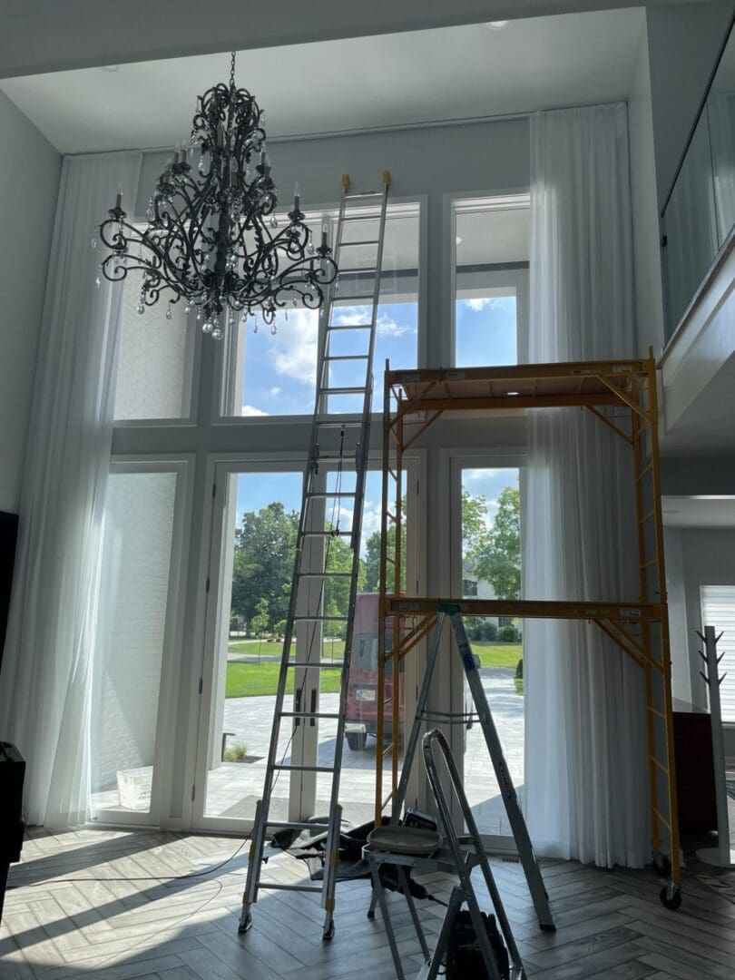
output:
<svg viewBox="0 0 735 980"><path fill-rule="evenodd" d="M628 9L260 48L240 55L237 81L268 110L271 137L610 102L627 96L643 24ZM0 87L63 153L168 147L228 69L203 55Z"/></svg>

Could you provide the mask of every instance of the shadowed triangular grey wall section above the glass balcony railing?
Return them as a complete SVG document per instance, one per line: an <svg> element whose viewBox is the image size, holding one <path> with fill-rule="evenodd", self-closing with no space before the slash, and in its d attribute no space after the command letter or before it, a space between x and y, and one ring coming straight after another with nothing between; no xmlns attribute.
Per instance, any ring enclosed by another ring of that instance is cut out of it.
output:
<svg viewBox="0 0 735 980"><path fill-rule="evenodd" d="M647 9L660 207L705 94L732 13L732 0Z"/></svg>

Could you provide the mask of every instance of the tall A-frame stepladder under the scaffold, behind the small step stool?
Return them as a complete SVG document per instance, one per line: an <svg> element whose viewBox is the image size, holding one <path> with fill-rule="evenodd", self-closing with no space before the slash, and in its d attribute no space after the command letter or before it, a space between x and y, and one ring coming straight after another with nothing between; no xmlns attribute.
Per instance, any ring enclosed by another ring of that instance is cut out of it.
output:
<svg viewBox="0 0 735 980"><path fill-rule="evenodd" d="M503 747L501 745L500 738L498 737L498 731L495 727L495 722L493 721L492 711L490 711L490 706L487 703L485 690L482 687L482 681L480 680L479 672L477 670L479 661L477 658L475 658L474 654L472 653L472 649L469 646L469 641L467 640L465 631L465 623L462 618L462 612L457 603L439 604L436 627L434 629L434 635L431 639L431 645L428 652L426 671L423 675L421 689L418 694L414 724L411 728L409 740L406 743L406 757L404 759L403 768L401 771L401 779L396 791L390 822L393 824L398 823L406 800L409 777L411 775L414 757L416 756L417 752L418 740L421 736L421 728L424 720L426 720L426 718L429 716L426 711L426 704L428 701L429 689L431 687L431 676L436 665L436 660L439 653L439 642L441 640L444 621L447 617L449 617L452 631L454 632L455 639L457 641L457 647L460 652L463 667L465 668L465 674L469 684L469 690L472 695L472 701L474 702L475 711L477 712L477 719L480 723L480 727L482 728L482 733L485 736L485 743L490 754L490 760L493 763L493 768L498 780L498 786L500 787L500 793L506 808L506 813L508 814L508 819L511 824L511 829L513 830L515 846L518 850L518 858L520 858L520 863L523 867L523 872L528 883L528 890L531 893L531 900L534 908L536 909L536 916L538 918L539 925L544 930L555 931L556 926L554 925L551 908L549 907L549 896L547 895L544 887L544 881L541 877L538 861L533 853L531 839L528 836L528 828L525 825L523 814L518 806L513 779L511 778L511 773L508 769L508 763L503 756Z"/></svg>

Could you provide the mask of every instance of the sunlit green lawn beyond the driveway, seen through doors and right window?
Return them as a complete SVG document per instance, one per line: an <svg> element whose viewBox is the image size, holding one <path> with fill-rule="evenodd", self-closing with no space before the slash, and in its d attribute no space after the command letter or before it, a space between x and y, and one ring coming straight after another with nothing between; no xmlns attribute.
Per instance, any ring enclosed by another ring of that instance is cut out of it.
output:
<svg viewBox="0 0 735 980"><path fill-rule="evenodd" d="M248 645L255 644L255 649ZM257 640L238 641L237 653L258 653ZM230 644L230 652L235 644ZM337 656L335 644L335 657ZM472 650L480 658L483 667L513 667L522 656L519 643L474 643ZM280 654L281 645L278 643L264 644L262 653L272 651ZM329 645L324 645L324 655L330 654ZM278 683L278 663L228 663L225 698L254 698L257 695L275 694ZM289 671L287 694L293 693L293 670ZM324 694L335 694L339 691L339 670L321 671L321 690Z"/></svg>

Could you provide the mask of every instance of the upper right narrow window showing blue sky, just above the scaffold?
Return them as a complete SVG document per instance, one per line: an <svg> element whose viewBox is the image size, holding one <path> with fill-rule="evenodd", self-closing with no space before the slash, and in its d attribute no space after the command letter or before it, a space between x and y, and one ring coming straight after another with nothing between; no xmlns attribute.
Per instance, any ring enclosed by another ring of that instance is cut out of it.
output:
<svg viewBox="0 0 735 980"><path fill-rule="evenodd" d="M458 368L524 360L528 319L528 198L454 205Z"/></svg>

